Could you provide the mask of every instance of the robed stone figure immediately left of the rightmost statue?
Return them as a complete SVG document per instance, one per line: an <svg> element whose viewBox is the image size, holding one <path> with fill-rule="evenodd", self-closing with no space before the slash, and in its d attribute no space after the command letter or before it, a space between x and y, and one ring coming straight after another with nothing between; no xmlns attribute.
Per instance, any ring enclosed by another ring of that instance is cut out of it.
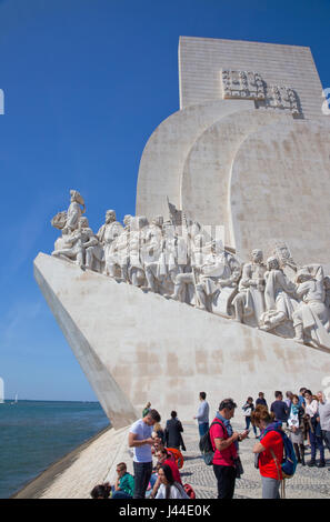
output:
<svg viewBox="0 0 330 522"><path fill-rule="evenodd" d="M280 269L278 258L269 258L267 269L268 271L264 273L266 312L260 318L260 328L273 330L284 320L292 320L292 313L298 302L296 300L296 284L289 281Z"/></svg>

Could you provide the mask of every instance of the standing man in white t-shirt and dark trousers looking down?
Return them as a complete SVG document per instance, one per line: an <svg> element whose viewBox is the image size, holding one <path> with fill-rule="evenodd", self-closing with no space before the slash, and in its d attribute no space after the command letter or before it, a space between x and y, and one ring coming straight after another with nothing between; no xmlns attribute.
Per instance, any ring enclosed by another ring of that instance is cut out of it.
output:
<svg viewBox="0 0 330 522"><path fill-rule="evenodd" d="M151 446L157 441L152 439L152 426L160 422L157 410L150 410L143 419L136 421L129 432L129 446L133 449L134 494L133 499L144 499L152 473Z"/></svg>

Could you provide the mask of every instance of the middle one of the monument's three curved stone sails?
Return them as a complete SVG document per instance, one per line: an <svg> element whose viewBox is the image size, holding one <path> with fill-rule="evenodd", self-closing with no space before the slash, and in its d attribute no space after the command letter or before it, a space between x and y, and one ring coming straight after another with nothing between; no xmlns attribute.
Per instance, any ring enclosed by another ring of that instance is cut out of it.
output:
<svg viewBox="0 0 330 522"><path fill-rule="evenodd" d="M250 133L257 130L267 132L267 126L276 122L287 126L292 122L292 118L263 109L228 114L201 133L187 155L181 181L182 209L200 223L223 224L226 244L236 247L236 237L231 233L229 199L231 167L236 153ZM249 184L249 177L253 175L253 167L251 165L251 173L244 172L246 177L240 183L242 192ZM258 212L258 192L252 201ZM233 212L240 212L240 209L233 209ZM254 247L259 247L258 240Z"/></svg>

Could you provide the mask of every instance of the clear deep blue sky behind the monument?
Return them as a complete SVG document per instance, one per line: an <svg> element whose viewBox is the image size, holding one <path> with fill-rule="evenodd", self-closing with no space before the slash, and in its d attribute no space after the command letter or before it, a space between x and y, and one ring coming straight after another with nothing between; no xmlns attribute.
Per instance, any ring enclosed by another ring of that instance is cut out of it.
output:
<svg viewBox="0 0 330 522"><path fill-rule="evenodd" d="M69 189L93 230L134 213L143 147L179 109L180 36L309 46L330 87L329 0L0 0L0 377L6 396L94 400L32 274Z"/></svg>

